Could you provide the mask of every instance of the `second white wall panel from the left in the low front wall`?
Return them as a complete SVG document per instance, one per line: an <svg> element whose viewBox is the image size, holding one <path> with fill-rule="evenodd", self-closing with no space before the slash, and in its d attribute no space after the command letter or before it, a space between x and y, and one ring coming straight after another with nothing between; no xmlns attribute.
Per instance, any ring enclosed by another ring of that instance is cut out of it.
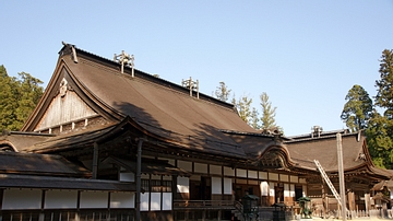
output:
<svg viewBox="0 0 393 221"><path fill-rule="evenodd" d="M45 209L72 209L76 208L76 190L47 190L45 193Z"/></svg>

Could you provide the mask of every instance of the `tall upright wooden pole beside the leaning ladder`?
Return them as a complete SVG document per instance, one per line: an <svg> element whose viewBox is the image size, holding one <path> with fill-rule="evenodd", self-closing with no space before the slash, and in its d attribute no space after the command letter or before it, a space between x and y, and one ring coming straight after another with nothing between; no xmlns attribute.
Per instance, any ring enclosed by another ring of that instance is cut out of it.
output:
<svg viewBox="0 0 393 221"><path fill-rule="evenodd" d="M341 211L343 220L346 221L346 202L345 202L345 179L344 179L344 163L343 163L343 147L342 147L342 136L338 132L336 135L337 139L337 160L338 160L338 178L340 178L340 197L341 197Z"/></svg>

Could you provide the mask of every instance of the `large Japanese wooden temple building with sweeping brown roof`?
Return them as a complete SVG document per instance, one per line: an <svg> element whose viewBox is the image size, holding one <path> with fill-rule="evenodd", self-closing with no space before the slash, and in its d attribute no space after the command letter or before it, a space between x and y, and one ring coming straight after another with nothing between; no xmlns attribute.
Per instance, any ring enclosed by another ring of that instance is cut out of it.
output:
<svg viewBox="0 0 393 221"><path fill-rule="evenodd" d="M349 210L372 208L372 187L393 173L372 164L361 132L285 137L251 128L233 104L64 44L21 131L0 136L0 221L241 220L273 206L337 209L318 161L338 189L342 138ZM270 214L272 213L272 214Z"/></svg>

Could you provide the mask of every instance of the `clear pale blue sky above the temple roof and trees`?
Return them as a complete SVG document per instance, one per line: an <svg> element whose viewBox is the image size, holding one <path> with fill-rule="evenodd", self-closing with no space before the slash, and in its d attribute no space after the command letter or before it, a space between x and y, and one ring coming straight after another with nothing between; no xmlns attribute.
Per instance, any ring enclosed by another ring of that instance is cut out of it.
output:
<svg viewBox="0 0 393 221"><path fill-rule="evenodd" d="M393 49L393 1L0 1L0 65L48 83L61 42L207 95L221 81L260 109L266 92L285 135L345 128L345 95L376 95L379 59ZM260 111L261 113L261 111Z"/></svg>

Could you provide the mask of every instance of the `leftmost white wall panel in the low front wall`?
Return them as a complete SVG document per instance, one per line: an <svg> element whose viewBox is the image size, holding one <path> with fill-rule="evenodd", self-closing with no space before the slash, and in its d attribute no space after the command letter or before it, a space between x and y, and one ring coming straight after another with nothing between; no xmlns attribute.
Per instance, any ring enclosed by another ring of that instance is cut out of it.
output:
<svg viewBox="0 0 393 221"><path fill-rule="evenodd" d="M40 209L41 190L5 189L2 209Z"/></svg>

